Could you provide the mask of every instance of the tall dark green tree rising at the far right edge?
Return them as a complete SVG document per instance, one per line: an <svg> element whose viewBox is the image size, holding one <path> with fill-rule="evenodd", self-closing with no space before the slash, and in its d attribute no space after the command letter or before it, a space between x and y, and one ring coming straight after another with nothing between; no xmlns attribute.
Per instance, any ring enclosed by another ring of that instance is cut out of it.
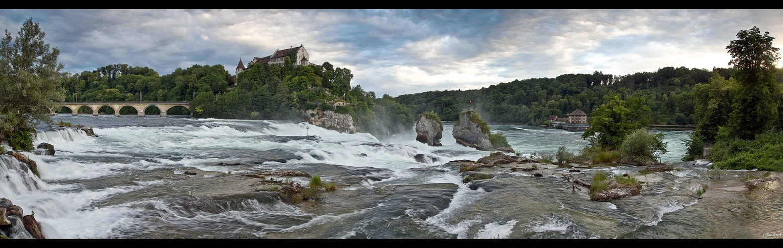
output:
<svg viewBox="0 0 783 248"><path fill-rule="evenodd" d="M735 79L739 82L739 94L734 99L734 109L729 119L731 133L749 140L756 134L770 129L778 119L778 83L775 81L774 63L780 59L780 49L772 47L770 32L756 26L739 31L737 40L726 46L731 53L729 65L734 65Z"/></svg>

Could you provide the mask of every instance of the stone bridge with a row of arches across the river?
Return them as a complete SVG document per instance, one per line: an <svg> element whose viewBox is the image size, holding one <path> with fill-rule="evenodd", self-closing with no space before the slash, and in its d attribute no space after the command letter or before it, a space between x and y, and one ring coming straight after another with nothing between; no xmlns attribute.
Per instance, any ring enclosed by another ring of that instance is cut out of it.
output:
<svg viewBox="0 0 783 248"><path fill-rule="evenodd" d="M168 112L168 109L171 109L173 106L183 106L186 109L190 109L190 103L189 102L63 102L63 106L67 106L72 112L73 116L76 116L78 113L77 111L81 106L87 106L88 108L92 109L92 116L98 116L98 110L102 106L109 106L110 108L114 109L114 116L119 117L120 116L120 109L122 109L124 106L132 106L136 109L136 113L138 113L139 117L144 116L144 110L148 106L157 106L159 110L161 110L161 117L166 116L166 112ZM54 111L51 111L52 115L54 114ZM190 112L190 116L193 117L193 112Z"/></svg>

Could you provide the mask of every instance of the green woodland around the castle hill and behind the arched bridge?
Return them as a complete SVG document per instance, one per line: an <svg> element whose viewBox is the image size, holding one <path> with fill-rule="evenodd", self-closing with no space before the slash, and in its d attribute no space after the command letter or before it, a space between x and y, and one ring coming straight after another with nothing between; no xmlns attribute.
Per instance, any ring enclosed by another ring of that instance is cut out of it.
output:
<svg viewBox="0 0 783 248"><path fill-rule="evenodd" d="M190 102L193 110L175 107L168 114L225 119L297 120L301 110L334 110L349 113L358 131L373 135L399 132L416 120L413 113L391 96L377 98L361 85L351 86L353 74L347 68L322 65L294 66L291 53L284 63L257 63L232 77L222 65L193 65L159 76L148 67L107 65L92 72L62 74L60 88L69 102L168 101ZM348 102L330 106L327 102ZM70 110L63 108L61 111ZM83 106L80 113L90 111ZM104 106L99 113L114 113ZM132 107L121 114L135 113ZM157 114L150 107L145 113Z"/></svg>

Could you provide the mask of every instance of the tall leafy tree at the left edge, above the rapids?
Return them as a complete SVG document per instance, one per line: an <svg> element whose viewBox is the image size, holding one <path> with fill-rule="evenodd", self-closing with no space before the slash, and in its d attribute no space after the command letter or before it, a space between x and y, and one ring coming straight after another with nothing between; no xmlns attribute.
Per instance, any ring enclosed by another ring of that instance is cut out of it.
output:
<svg viewBox="0 0 783 248"><path fill-rule="evenodd" d="M31 150L35 125L49 122L65 93L58 89L60 50L49 49L45 33L33 19L24 21L12 38L5 30L0 41L0 138L15 149Z"/></svg>

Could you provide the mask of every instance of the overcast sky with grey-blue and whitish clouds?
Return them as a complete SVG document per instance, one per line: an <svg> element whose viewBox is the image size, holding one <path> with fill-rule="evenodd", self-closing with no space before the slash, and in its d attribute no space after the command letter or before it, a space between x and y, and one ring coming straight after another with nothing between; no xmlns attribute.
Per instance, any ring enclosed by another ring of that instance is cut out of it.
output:
<svg viewBox="0 0 783 248"><path fill-rule="evenodd" d="M28 18L60 49L65 71L108 64L222 64L305 45L311 63L354 74L381 96L665 66L728 67L726 46L753 26L783 46L783 10L99 10L0 9L13 36ZM778 62L778 66L783 63Z"/></svg>

